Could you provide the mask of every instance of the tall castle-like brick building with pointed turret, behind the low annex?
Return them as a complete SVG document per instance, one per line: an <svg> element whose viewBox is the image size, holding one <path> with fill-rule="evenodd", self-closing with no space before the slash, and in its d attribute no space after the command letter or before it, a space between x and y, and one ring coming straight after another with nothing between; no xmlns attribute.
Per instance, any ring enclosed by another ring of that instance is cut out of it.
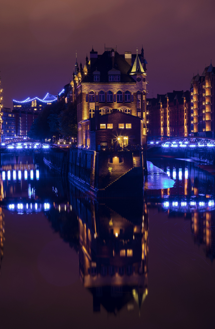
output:
<svg viewBox="0 0 215 329"><path fill-rule="evenodd" d="M78 146L88 146L98 142L94 137L93 143L90 139L93 134L86 133L86 126L90 127L91 121L86 121L94 118L97 110L100 116L105 116L103 125L112 123L108 116L114 114L113 110L121 112L132 117L138 117L139 130L141 130L141 137L136 141L144 143L146 141L146 60L144 58L144 50L142 48L141 54L132 55L131 52L125 52L120 55L116 48L105 48L102 55L98 55L94 49L90 52L90 61L86 57L84 68L80 64L80 69L76 60L75 72L73 80L70 83L70 88L67 93L66 101L77 102L78 114ZM115 112L116 112L115 111ZM114 114L113 120L121 119L121 116ZM129 121L129 120L128 120ZM131 123L129 121L129 123ZM133 121L132 121L133 122ZM121 122L118 122L118 127ZM100 124L101 117L100 117ZM133 123L134 124L134 123ZM101 136L102 128L94 127L97 132L97 137ZM105 129L112 129L105 127ZM126 129L126 128L125 128ZM107 130L108 131L108 130ZM100 135L99 135L100 134ZM104 134L104 133L103 133ZM123 131L124 137L128 135L127 131ZM124 136L126 135L126 136ZM95 136L95 135L94 135ZM121 135L120 135L121 136ZM113 139L113 143L119 136L112 136L106 138ZM105 139L105 140L106 140ZM101 143L110 143L110 141L102 141ZM119 142L122 144L121 140Z"/></svg>

